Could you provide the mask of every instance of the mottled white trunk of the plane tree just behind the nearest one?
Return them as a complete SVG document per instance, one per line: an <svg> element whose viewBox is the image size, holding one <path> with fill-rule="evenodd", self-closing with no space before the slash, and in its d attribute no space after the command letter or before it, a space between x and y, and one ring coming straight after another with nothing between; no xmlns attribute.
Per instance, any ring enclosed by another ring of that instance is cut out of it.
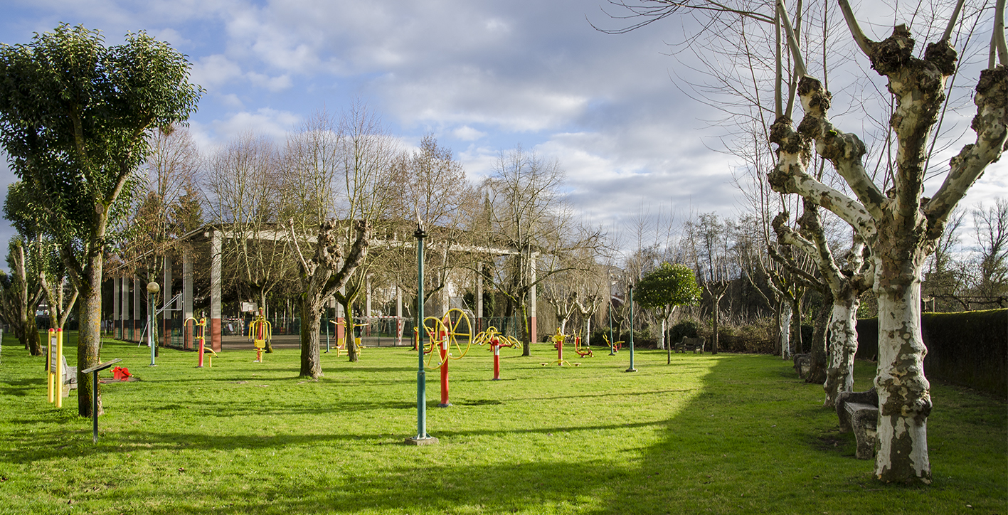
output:
<svg viewBox="0 0 1008 515"><path fill-rule="evenodd" d="M854 355L858 352L858 305L856 295L834 297L830 320L830 367L827 369L827 407L836 406L837 394L854 391Z"/></svg>

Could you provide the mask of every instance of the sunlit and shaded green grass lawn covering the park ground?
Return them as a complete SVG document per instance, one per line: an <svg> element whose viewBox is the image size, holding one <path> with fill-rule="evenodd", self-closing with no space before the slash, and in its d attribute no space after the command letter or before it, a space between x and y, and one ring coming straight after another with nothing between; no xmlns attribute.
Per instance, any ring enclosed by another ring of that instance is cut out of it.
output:
<svg viewBox="0 0 1008 515"><path fill-rule="evenodd" d="M107 342L140 380L103 385L91 419L45 402L42 359L7 339L0 361L0 513L1006 513L1003 400L932 384L929 487L882 485L822 407L823 390L771 356L598 352L578 368L483 349L451 363L452 402L416 433L416 358L368 349L265 363ZM76 362L72 351L71 364ZM867 389L872 364L857 364ZM106 374L111 375L111 374ZM971 508L972 507L972 508Z"/></svg>

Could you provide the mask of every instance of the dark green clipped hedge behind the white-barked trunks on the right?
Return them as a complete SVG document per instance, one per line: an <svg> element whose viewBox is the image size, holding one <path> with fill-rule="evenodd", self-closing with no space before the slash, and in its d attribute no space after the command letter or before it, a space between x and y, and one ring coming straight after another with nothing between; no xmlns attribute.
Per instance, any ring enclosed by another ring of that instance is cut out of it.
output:
<svg viewBox="0 0 1008 515"><path fill-rule="evenodd" d="M1008 309L923 313L924 375L1008 397ZM857 358L878 358L878 319L858 320Z"/></svg>

